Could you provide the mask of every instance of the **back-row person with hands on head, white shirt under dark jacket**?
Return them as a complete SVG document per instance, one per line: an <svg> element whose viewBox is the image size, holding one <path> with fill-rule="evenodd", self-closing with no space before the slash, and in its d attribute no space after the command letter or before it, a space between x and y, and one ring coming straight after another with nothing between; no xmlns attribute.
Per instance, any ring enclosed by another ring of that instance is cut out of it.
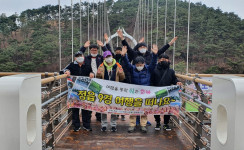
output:
<svg viewBox="0 0 244 150"><path fill-rule="evenodd" d="M99 40L97 40L97 44L102 48L102 50L105 52L107 50L107 47L103 45L103 43ZM82 53L85 53L86 49L89 47L90 49L90 55L86 56L86 63L91 65L92 71L97 73L97 68L100 64L103 62L103 57L98 54L98 46L96 44L90 44L90 41L86 41L84 46L80 48L80 51ZM101 113L96 112L96 119L97 121L101 122Z"/></svg>

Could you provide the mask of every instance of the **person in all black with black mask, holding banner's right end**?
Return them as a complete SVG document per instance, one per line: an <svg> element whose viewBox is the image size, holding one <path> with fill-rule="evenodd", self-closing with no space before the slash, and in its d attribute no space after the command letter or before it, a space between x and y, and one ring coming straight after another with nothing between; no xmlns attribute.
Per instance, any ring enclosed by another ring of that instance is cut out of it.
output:
<svg viewBox="0 0 244 150"><path fill-rule="evenodd" d="M169 56L165 54L161 54L158 59L158 64L151 76L151 85L152 86L170 86L170 85L182 85L176 78L175 71L170 68ZM161 129L160 124L160 115L154 115L156 121L155 130ZM164 125L163 129L166 131L170 131L171 128L168 125L170 119L170 115L164 115Z"/></svg>

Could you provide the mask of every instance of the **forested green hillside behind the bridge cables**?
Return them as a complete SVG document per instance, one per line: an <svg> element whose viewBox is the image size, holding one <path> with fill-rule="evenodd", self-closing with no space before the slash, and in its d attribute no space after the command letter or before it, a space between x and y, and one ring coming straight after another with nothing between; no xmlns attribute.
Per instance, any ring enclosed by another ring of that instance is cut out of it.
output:
<svg viewBox="0 0 244 150"><path fill-rule="evenodd" d="M138 3L138 0L116 2L108 0L106 2L111 34L115 33L119 27L124 27L127 33L133 35ZM88 3L82 3L82 5L82 41L84 43L87 40ZM100 5L95 4L95 11L100 8ZM90 39L95 41L96 39L92 39L92 6L90 3ZM73 42L74 51L77 51L81 45L79 4L75 4L73 9ZM156 1L154 9L153 43L156 39ZM72 57L70 6L62 7L61 17L62 67L64 67ZM179 73L184 73L186 68L187 17L188 2L178 0L176 34L179 38L176 43L176 71ZM164 18L165 0L160 0L159 47L164 45ZM173 38L173 23L174 1L168 0L168 42ZM100 29L100 26L98 28ZM96 21L95 29L97 29ZM96 38L97 35L94 37ZM58 6L40 6L39 9L28 9L21 14L13 14L9 17L2 14L0 16L0 41L0 71L59 71ZM172 47L166 53L172 57ZM220 9L209 8L201 3L192 3L189 72L244 73L243 60L244 20L234 13L224 13Z"/></svg>

